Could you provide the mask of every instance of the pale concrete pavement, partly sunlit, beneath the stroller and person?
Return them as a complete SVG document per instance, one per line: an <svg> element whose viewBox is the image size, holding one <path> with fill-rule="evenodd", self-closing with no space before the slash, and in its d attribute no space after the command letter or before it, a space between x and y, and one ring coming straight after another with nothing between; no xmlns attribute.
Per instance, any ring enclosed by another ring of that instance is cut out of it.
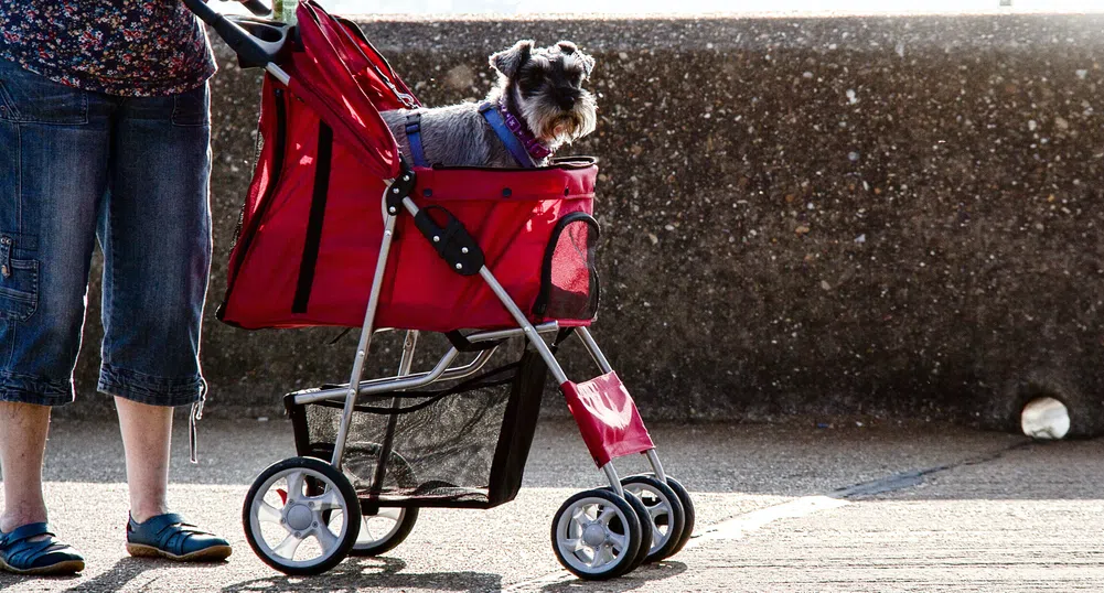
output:
<svg viewBox="0 0 1104 593"><path fill-rule="evenodd" d="M548 526L601 486L575 428L543 423L518 499L490 511L425 510L404 544L293 579L245 543L254 476L293 453L284 421L204 421L199 466L178 433L172 500L232 540L224 564L135 560L123 548L121 445L110 423L55 423L51 520L87 557L84 574L10 591L1102 591L1104 441L1034 444L952 426L652 427L693 494L697 537L668 562L581 583ZM628 469L628 467L626 467Z"/></svg>

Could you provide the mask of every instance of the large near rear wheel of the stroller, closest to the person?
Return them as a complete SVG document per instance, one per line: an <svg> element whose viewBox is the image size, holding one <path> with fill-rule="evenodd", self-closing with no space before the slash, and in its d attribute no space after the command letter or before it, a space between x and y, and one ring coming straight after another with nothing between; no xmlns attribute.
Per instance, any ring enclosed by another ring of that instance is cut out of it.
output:
<svg viewBox="0 0 1104 593"><path fill-rule="evenodd" d="M319 486L321 493L315 494ZM320 574L341 562L357 541L360 502L349 480L331 465L293 457L273 464L253 481L242 523L250 547L269 566L285 574Z"/></svg>

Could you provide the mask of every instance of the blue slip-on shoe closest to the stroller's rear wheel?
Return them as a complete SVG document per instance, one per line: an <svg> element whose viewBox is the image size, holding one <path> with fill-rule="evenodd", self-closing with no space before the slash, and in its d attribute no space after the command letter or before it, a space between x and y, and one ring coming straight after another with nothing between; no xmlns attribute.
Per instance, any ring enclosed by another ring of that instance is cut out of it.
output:
<svg viewBox="0 0 1104 593"><path fill-rule="evenodd" d="M182 562L217 562L230 555L230 543L185 523L176 512L150 517L139 523L127 521L127 552L137 557L160 557Z"/></svg>

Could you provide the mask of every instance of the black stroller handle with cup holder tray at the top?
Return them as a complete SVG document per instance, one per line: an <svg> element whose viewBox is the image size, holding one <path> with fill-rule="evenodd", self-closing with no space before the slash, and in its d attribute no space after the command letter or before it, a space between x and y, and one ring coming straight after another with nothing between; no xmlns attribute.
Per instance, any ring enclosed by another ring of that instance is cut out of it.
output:
<svg viewBox="0 0 1104 593"><path fill-rule="evenodd" d="M206 0L182 1L230 45L230 49L237 54L242 67L268 67L270 64L275 65L284 55L290 25L250 17L227 18L212 10ZM256 14L272 12L259 0L245 0L242 4Z"/></svg>

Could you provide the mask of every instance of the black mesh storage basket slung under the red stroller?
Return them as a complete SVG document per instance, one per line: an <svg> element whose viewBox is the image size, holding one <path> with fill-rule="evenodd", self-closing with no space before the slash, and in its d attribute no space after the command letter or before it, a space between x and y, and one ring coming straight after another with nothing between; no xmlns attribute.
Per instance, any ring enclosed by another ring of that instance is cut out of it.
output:
<svg viewBox="0 0 1104 593"><path fill-rule="evenodd" d="M527 351L518 361L453 385L361 398L342 464L361 502L490 508L512 500L545 375L540 357ZM298 454L329 459L343 402L300 405L289 394L285 405ZM373 490L389 430L392 452L382 486Z"/></svg>

